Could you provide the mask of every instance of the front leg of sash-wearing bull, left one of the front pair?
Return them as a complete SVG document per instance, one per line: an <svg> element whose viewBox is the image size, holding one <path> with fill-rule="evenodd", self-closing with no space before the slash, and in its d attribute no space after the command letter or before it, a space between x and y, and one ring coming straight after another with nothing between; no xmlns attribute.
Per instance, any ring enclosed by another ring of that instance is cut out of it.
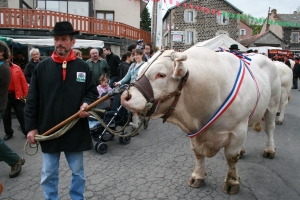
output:
<svg viewBox="0 0 300 200"><path fill-rule="evenodd" d="M194 151L195 153L195 151ZM188 180L188 185L193 188L198 188L204 183L205 179L205 156L195 153L196 165L194 172Z"/></svg>

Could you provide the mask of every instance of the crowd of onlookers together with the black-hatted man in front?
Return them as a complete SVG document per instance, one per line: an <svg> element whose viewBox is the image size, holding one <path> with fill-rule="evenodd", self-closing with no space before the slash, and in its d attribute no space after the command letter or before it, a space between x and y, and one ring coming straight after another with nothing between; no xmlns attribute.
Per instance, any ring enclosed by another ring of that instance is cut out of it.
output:
<svg viewBox="0 0 300 200"><path fill-rule="evenodd" d="M12 108L21 132L32 144L37 143L37 134L46 132L74 113L80 117L67 134L40 142L43 158L41 186L46 199L59 198L61 152L72 171L70 196L72 199L84 198L83 151L92 149L87 120L89 113L85 109L115 86L132 82L143 63L154 53L151 45L140 39L128 45L121 58L110 46L105 46L91 49L90 59L84 61L82 52L72 49L78 33L71 23L57 22L53 29L55 50L51 57L42 60L39 49L33 48L28 63L24 63L25 58L19 52L14 59L19 63L11 62L8 46L0 43L0 118L3 118L5 132L3 139L0 138L0 160L11 166L9 177L18 176L25 163L24 158L5 144L14 134ZM141 122L137 113L133 113L132 121L132 126L137 128Z"/></svg>

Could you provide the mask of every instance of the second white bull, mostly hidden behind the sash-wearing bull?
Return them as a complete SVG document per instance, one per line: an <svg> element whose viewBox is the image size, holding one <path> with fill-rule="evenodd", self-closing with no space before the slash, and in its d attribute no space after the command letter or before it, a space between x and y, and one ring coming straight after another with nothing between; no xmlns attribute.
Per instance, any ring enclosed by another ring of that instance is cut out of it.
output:
<svg viewBox="0 0 300 200"><path fill-rule="evenodd" d="M276 67L278 68L279 74L280 74L280 80L281 80L281 97L280 97L280 104L278 108L278 121L276 124L282 125L282 122L284 120L284 110L287 106L290 98L291 98L291 88L292 88L292 82L293 82L293 71L289 66L286 64L274 61ZM294 65L293 65L294 67Z"/></svg>

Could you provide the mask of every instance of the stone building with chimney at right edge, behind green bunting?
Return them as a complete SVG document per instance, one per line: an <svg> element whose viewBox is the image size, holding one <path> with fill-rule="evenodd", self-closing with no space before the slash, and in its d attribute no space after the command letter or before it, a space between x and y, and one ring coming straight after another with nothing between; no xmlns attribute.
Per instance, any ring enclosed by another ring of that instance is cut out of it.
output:
<svg viewBox="0 0 300 200"><path fill-rule="evenodd" d="M267 23L268 20L275 21ZM293 14L278 14L276 9L273 9L268 15L268 20L262 27L262 32L271 30L285 43L282 49L290 50L294 53L300 52L300 14L294 11ZM278 22L280 25L278 25ZM284 23L281 23L284 22ZM287 23L289 22L289 24Z"/></svg>

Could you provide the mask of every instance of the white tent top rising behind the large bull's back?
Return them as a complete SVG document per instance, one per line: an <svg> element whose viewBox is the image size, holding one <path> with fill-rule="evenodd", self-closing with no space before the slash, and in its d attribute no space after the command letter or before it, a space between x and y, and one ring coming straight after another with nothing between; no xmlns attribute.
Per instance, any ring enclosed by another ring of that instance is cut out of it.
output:
<svg viewBox="0 0 300 200"><path fill-rule="evenodd" d="M237 44L239 46L240 51L247 51L248 49L246 47L244 47L242 44L238 43L237 41L235 41L234 39L230 38L228 35L226 34L220 34L212 39L209 40L205 40L203 42L198 42L197 44L195 44L195 47L206 47L208 49L211 49L213 51L217 51L219 50L219 47L222 47L226 50L229 50L229 47L232 44Z"/></svg>

